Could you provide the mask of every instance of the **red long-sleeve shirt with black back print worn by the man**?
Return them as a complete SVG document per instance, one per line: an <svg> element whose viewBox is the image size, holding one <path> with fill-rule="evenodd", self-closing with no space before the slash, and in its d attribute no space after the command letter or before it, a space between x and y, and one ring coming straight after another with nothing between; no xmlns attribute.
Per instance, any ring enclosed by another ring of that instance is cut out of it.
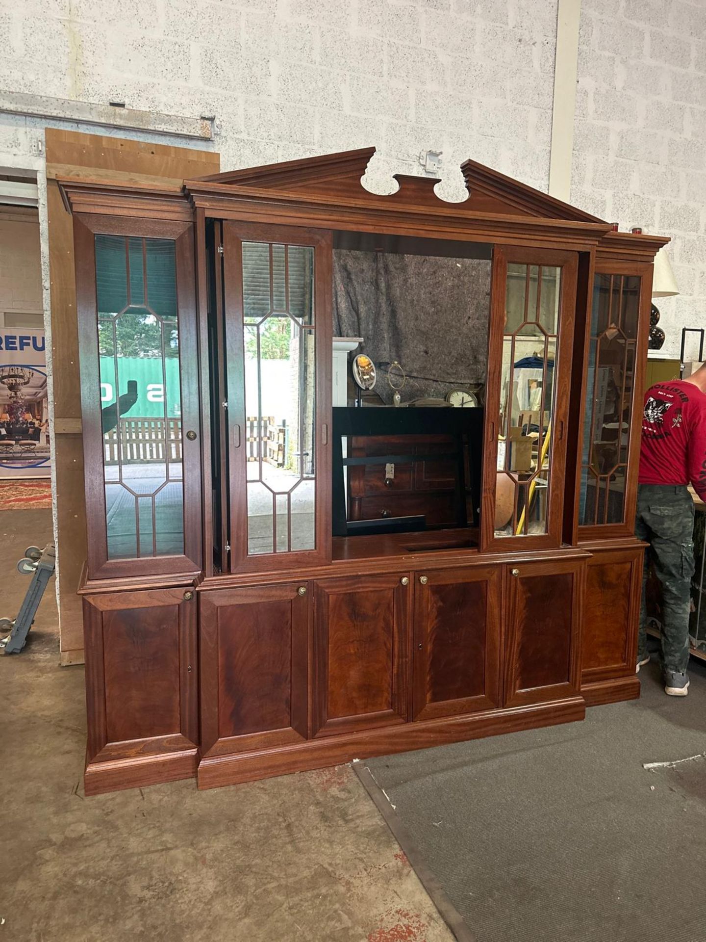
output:
<svg viewBox="0 0 706 942"><path fill-rule="evenodd" d="M657 382L645 393L640 484L691 484L706 501L706 395L693 382Z"/></svg>

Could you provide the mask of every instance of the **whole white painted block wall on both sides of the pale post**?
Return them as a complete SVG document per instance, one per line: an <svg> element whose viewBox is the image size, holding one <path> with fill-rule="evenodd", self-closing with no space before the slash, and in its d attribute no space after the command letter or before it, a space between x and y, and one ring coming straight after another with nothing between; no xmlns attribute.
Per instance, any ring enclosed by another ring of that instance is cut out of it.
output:
<svg viewBox="0 0 706 942"><path fill-rule="evenodd" d="M0 0L0 88L216 114L222 168L375 144L546 189L557 0ZM706 323L706 0L583 0L572 202L673 236L665 351ZM0 164L41 123L0 115ZM158 138L155 138L158 139ZM7 157L7 159L6 159Z"/></svg>

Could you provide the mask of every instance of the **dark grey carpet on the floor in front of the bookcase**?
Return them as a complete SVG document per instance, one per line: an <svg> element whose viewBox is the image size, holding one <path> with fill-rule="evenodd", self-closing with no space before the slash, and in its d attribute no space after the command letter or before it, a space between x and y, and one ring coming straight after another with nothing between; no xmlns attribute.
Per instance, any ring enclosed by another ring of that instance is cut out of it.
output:
<svg viewBox="0 0 706 942"><path fill-rule="evenodd" d="M477 942L706 940L706 666L584 723L361 763Z"/></svg>

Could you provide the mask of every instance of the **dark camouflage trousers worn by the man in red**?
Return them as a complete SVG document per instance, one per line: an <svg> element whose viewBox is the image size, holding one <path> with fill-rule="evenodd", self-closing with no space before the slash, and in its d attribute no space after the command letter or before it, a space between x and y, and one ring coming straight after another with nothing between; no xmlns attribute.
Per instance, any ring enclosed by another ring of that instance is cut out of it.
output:
<svg viewBox="0 0 706 942"><path fill-rule="evenodd" d="M635 536L649 544L642 576L638 660L647 652L645 587L650 561L662 585L662 666L686 672L689 663L689 609L694 575L694 501L685 485L640 484Z"/></svg>

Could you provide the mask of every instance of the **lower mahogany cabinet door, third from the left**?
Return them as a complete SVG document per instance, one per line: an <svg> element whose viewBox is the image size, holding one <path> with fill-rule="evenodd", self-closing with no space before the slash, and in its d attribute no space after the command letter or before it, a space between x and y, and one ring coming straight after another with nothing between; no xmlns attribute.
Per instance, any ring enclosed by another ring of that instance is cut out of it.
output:
<svg viewBox="0 0 706 942"><path fill-rule="evenodd" d="M314 736L407 720L409 573L316 582Z"/></svg>

